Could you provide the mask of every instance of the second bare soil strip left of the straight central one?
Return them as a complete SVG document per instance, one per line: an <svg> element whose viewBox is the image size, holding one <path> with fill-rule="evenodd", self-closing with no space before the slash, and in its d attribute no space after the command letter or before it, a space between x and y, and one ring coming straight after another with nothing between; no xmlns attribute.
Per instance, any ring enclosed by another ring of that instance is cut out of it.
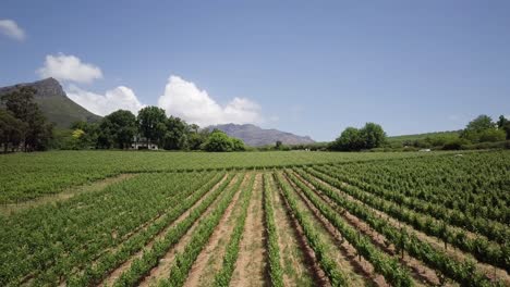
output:
<svg viewBox="0 0 510 287"><path fill-rule="evenodd" d="M232 178L232 180L227 186L227 189L231 188L238 180L240 180L239 175ZM181 240L174 247L168 250L167 254L165 254L165 257L159 260L159 264L150 271L150 273L141 282L138 286L153 286L156 285L158 279L168 277L175 254L184 250L186 245L190 242L193 233L198 227L199 222L214 211L216 203L220 201L222 195L219 195L218 198L215 199L212 204L210 204L209 208L201 215L201 217L193 224L193 226L181 238Z"/></svg>

